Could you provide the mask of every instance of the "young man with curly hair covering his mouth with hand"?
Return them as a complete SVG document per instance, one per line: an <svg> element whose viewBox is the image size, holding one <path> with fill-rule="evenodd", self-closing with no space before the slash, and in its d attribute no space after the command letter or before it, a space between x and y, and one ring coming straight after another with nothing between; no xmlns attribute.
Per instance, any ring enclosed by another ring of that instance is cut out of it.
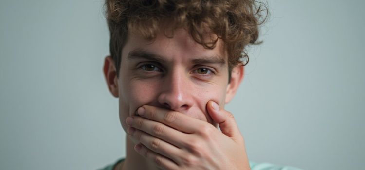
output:
<svg viewBox="0 0 365 170"><path fill-rule="evenodd" d="M128 136L126 158L105 170L250 169L224 105L243 79L242 51L258 37L255 5L106 0L111 56L103 71Z"/></svg>

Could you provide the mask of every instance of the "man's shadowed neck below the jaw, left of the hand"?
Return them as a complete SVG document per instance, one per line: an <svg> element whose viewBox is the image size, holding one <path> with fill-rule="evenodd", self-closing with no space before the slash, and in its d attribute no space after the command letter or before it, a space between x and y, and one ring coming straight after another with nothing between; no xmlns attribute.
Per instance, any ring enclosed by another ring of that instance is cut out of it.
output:
<svg viewBox="0 0 365 170"><path fill-rule="evenodd" d="M151 160L147 160L134 150L135 143L126 137L127 154L121 170L160 170Z"/></svg>

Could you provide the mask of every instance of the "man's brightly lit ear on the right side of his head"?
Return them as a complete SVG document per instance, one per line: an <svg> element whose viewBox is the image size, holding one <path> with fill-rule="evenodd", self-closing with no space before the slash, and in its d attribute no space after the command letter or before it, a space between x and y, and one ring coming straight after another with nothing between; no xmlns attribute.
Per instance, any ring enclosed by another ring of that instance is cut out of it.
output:
<svg viewBox="0 0 365 170"><path fill-rule="evenodd" d="M229 103L235 96L239 85L243 80L245 68L243 65L238 65L232 68L231 80L227 86L225 103Z"/></svg>

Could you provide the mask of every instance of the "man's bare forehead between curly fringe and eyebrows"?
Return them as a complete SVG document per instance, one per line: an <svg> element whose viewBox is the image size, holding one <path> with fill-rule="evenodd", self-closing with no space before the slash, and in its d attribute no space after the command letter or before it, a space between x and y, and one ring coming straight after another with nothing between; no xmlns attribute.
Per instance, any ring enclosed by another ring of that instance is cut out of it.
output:
<svg viewBox="0 0 365 170"><path fill-rule="evenodd" d="M225 63L228 63L222 40L217 41L214 49L207 49L197 43L185 29L175 30L171 37L159 32L153 40L147 40L139 34L130 33L123 48L122 60L126 59L129 52L135 50L153 53L169 61L192 60L199 57L220 57Z"/></svg>

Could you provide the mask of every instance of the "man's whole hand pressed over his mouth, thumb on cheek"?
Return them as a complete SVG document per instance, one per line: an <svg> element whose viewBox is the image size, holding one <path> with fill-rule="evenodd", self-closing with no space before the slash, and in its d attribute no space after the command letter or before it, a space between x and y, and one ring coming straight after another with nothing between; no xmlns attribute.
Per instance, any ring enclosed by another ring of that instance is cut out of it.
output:
<svg viewBox="0 0 365 170"><path fill-rule="evenodd" d="M216 109L215 109L216 108ZM231 113L210 101L207 110L219 124L154 106L126 119L135 150L163 170L250 170L244 139Z"/></svg>

